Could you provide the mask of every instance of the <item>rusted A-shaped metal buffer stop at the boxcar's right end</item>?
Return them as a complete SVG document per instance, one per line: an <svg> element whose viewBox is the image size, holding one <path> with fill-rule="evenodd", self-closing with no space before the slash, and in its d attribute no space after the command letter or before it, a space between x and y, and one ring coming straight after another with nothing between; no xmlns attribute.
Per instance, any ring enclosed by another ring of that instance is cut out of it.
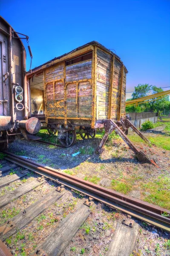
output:
<svg viewBox="0 0 170 256"><path fill-rule="evenodd" d="M125 127L126 127L127 122L128 122L128 125L130 125L130 121L128 119L127 119L127 121L126 121L126 119L124 119L123 121L124 121ZM120 125L120 124L121 124L121 121L118 122L118 125ZM151 161L143 152L138 150L138 148L136 148L135 145L133 145L133 143L129 140L129 138L124 134L124 131L122 131L118 125L111 119L104 120L105 134L101 140L100 145L97 148L97 152L100 154L103 151L102 147L106 143L107 138L109 137L109 134L111 134L112 131L115 131L124 140L124 142L130 147L130 149L133 150L133 152L135 153L135 156L138 158L139 162L155 164L153 160ZM136 129L136 130L138 130L138 129ZM140 131L138 131L138 133L140 133ZM143 136L143 134L140 133L139 136L141 137L141 135ZM146 140L147 140L147 138L146 138Z"/></svg>

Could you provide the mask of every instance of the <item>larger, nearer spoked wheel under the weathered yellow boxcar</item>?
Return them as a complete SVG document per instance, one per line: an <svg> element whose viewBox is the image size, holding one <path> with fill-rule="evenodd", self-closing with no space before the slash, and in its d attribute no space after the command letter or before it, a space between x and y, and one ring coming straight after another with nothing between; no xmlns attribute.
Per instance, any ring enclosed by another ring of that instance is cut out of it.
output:
<svg viewBox="0 0 170 256"><path fill-rule="evenodd" d="M58 140L63 147L74 145L76 141L76 131L70 130L64 133L58 133Z"/></svg>

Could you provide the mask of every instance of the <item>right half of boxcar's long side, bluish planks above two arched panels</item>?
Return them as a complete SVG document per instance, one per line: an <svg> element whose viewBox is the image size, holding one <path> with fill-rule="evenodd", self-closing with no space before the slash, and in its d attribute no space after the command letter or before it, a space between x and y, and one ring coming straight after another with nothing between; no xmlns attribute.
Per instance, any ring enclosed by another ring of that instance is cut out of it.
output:
<svg viewBox="0 0 170 256"><path fill-rule="evenodd" d="M66 66L66 104L68 118L92 118L92 85L89 81L81 81L91 78L92 60L81 61ZM72 83L72 81L77 82Z"/></svg>

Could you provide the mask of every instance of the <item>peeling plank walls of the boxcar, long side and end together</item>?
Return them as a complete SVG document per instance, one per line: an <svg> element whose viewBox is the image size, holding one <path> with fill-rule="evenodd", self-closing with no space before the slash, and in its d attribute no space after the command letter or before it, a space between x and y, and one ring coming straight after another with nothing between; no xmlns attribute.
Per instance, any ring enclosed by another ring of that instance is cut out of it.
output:
<svg viewBox="0 0 170 256"><path fill-rule="evenodd" d="M96 48L96 65L94 66L96 68L93 68L92 59L89 59L92 58L92 52L89 52L75 59L68 58L66 62L55 64L44 70L46 116L56 118L56 123L57 119L62 118L65 119L65 124L66 120L71 118L92 119L94 127L96 120L108 119L108 116L117 120L123 64L116 55L113 58L111 53L100 47ZM113 59L114 66L111 65ZM121 90L121 117L125 115L126 73L125 68ZM94 76L95 85L93 84L92 87ZM93 95L94 91L95 95ZM95 100L92 98L94 96ZM93 108L94 104L95 108Z"/></svg>

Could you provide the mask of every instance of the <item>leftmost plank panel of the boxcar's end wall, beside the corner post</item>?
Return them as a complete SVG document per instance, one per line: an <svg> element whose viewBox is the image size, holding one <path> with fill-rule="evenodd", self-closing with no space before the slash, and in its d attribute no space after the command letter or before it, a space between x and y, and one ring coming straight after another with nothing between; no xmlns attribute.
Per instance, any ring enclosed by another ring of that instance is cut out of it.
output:
<svg viewBox="0 0 170 256"><path fill-rule="evenodd" d="M97 119L107 119L111 55L97 48L96 97Z"/></svg>

